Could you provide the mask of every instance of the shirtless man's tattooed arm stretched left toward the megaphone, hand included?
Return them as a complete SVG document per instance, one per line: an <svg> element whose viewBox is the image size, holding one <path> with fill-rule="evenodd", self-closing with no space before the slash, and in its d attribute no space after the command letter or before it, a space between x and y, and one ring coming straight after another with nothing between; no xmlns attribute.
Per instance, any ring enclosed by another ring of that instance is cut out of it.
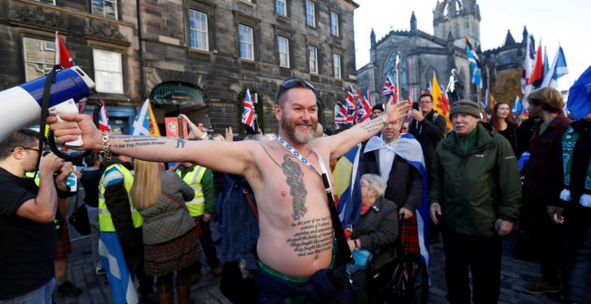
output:
<svg viewBox="0 0 591 304"><path fill-rule="evenodd" d="M64 114L65 122L47 117L57 142L72 141L82 136L84 145L79 149L102 150L103 134L85 114ZM110 134L107 140L111 151L153 162L192 162L213 170L243 175L253 162L253 143L220 142L216 140L188 140L177 145L178 139L167 137L129 136ZM184 139L182 139L184 140Z"/></svg>

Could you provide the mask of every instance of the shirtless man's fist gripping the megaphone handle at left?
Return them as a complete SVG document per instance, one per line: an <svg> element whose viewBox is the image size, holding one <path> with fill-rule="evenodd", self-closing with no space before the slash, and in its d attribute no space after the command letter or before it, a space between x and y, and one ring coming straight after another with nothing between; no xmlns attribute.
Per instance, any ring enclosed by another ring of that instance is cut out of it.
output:
<svg viewBox="0 0 591 304"><path fill-rule="evenodd" d="M56 116L48 116L47 123L56 141L59 144L64 144L69 141L79 139L81 136L83 145L80 147L73 147L75 150L100 150L103 148L102 138L103 134L94 125L90 116L87 114L61 114L59 115L61 122L58 122Z"/></svg>

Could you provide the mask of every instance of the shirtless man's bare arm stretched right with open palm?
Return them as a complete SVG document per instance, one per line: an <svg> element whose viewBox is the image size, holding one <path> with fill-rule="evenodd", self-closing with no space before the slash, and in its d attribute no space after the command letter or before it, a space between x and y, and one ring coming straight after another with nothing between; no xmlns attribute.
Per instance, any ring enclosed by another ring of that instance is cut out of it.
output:
<svg viewBox="0 0 591 304"><path fill-rule="evenodd" d="M373 135L379 133L381 129L386 126L386 123L398 122L398 120L402 119L402 116L407 113L411 106L412 105L406 101L401 101L396 105L392 105L392 97L390 97L390 100L386 104L386 112L380 117L374 118L371 121L355 124L353 128L342 131L336 135L321 138L329 142L330 159L336 159L343 156L358 143L372 138Z"/></svg>

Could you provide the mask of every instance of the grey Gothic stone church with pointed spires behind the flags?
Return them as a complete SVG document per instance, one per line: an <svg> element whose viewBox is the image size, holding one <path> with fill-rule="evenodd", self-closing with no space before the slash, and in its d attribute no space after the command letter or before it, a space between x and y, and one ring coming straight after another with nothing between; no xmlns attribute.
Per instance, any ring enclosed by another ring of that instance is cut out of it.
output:
<svg viewBox="0 0 591 304"><path fill-rule="evenodd" d="M519 80L514 80L514 77L516 73L520 76L527 30L524 30L522 43L516 43L508 32L503 46L483 53L480 47L480 20L476 0L444 0L437 1L433 9L434 35L417 29L415 13L410 18L410 30L392 30L379 40L372 31L370 63L357 71L358 86L369 89L374 102L384 102L385 97L381 97L383 83L386 75L395 80L398 55L401 70L401 88L398 89L403 98L407 98L409 89L412 89L416 100L422 90L430 87L433 72L445 89L450 81L451 70L457 69L464 84L463 97L482 101L485 89L490 88L497 100L515 99L515 95L509 96L513 92L520 92L515 90L518 89ZM470 83L466 38L470 39L481 59L482 90ZM510 93L505 91L509 87Z"/></svg>

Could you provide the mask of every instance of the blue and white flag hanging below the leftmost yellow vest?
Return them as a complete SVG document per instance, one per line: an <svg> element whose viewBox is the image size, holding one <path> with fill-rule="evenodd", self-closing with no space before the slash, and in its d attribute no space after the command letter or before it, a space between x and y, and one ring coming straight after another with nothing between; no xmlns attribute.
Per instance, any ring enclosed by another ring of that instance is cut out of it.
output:
<svg viewBox="0 0 591 304"><path fill-rule="evenodd" d="M113 302L138 303L138 293L133 285L132 274L125 264L123 249L116 232L100 232L99 255L100 264L105 268L108 284L111 286Z"/></svg>

